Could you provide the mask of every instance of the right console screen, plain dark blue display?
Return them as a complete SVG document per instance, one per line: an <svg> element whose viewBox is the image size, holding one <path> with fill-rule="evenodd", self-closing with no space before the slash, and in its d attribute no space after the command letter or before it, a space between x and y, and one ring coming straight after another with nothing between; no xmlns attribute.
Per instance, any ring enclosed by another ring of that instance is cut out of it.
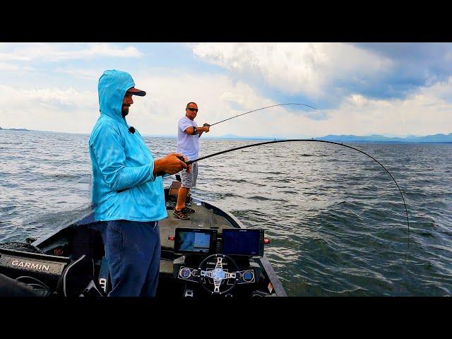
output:
<svg viewBox="0 0 452 339"><path fill-rule="evenodd" d="M241 256L263 256L263 230L223 229L222 253Z"/></svg>

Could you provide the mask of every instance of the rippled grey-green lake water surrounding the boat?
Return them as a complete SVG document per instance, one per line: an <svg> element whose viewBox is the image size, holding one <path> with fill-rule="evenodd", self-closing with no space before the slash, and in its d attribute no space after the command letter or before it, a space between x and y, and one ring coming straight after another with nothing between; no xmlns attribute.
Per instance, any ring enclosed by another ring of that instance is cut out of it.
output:
<svg viewBox="0 0 452 339"><path fill-rule="evenodd" d="M145 138L154 157L175 138ZM201 138L200 156L258 141ZM0 242L42 237L90 205L88 135L0 131ZM452 292L452 145L280 143L199 162L194 196L246 227L290 296ZM165 178L165 184L174 177Z"/></svg>

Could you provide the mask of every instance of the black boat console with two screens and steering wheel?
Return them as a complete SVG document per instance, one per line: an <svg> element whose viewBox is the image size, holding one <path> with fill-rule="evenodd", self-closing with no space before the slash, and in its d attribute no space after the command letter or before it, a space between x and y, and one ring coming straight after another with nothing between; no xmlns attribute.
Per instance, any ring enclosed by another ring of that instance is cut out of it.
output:
<svg viewBox="0 0 452 339"><path fill-rule="evenodd" d="M263 230L176 228L174 254L182 256L173 261L173 276L187 283L184 296L254 290L262 268L253 258L263 256L263 237Z"/></svg>

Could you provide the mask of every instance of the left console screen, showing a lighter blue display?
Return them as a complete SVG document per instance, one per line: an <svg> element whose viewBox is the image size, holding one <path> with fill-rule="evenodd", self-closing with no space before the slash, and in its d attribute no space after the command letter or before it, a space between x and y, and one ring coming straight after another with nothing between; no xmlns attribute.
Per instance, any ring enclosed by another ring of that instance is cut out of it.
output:
<svg viewBox="0 0 452 339"><path fill-rule="evenodd" d="M207 230L177 230L174 251L185 253L209 253L211 233Z"/></svg>

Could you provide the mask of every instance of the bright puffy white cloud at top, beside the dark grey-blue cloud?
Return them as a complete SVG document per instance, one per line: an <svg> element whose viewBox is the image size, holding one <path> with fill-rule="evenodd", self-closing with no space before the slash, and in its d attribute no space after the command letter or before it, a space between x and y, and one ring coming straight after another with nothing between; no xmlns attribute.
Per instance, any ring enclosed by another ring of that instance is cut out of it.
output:
<svg viewBox="0 0 452 339"><path fill-rule="evenodd" d="M389 71L390 59L341 43L189 44L201 60L238 76L263 78L290 94L320 97L334 81L359 83Z"/></svg>

